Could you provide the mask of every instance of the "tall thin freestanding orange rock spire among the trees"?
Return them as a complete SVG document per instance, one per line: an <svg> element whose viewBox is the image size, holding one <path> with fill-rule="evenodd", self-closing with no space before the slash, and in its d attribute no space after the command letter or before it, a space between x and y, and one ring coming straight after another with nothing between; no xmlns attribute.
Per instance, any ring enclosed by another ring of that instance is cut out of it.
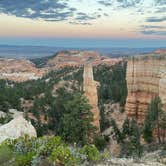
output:
<svg viewBox="0 0 166 166"><path fill-rule="evenodd" d="M93 69L92 65L85 64L84 65L84 82L83 82L83 90L85 96L89 100L89 104L92 106L91 112L93 113L93 122L92 124L100 131L100 113L98 109L98 95L97 95L97 86L98 83L93 79Z"/></svg>

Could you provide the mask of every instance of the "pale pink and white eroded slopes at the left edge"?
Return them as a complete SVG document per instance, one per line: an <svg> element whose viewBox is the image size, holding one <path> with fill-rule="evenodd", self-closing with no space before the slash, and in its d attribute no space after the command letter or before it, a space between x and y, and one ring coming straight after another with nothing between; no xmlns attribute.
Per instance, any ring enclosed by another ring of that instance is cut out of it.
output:
<svg viewBox="0 0 166 166"><path fill-rule="evenodd" d="M43 74L44 70L37 69L28 60L0 58L0 79L22 82L39 79Z"/></svg>

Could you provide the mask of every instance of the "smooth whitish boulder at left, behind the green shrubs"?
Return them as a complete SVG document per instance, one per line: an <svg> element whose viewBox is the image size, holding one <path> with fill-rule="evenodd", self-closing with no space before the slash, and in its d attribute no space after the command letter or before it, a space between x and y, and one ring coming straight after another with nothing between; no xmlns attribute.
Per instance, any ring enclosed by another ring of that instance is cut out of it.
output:
<svg viewBox="0 0 166 166"><path fill-rule="evenodd" d="M24 135L37 137L35 128L22 116L17 116L9 123L0 126L0 143L9 138L16 139Z"/></svg>

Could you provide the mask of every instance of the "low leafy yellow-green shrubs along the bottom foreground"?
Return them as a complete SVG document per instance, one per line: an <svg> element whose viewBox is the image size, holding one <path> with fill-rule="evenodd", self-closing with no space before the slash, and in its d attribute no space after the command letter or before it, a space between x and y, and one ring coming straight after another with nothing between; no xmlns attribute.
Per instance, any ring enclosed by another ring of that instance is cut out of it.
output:
<svg viewBox="0 0 166 166"><path fill-rule="evenodd" d="M6 140L0 145L2 166L48 165L79 166L102 159L95 145L68 146L59 136Z"/></svg>

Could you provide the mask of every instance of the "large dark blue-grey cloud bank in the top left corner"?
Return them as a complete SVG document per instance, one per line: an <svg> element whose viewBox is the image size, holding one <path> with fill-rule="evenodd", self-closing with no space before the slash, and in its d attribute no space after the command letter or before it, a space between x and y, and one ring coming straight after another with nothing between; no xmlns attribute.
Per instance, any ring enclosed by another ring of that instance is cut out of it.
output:
<svg viewBox="0 0 166 166"><path fill-rule="evenodd" d="M17 17L63 21L71 17L76 9L60 0L1 0L0 12Z"/></svg>

